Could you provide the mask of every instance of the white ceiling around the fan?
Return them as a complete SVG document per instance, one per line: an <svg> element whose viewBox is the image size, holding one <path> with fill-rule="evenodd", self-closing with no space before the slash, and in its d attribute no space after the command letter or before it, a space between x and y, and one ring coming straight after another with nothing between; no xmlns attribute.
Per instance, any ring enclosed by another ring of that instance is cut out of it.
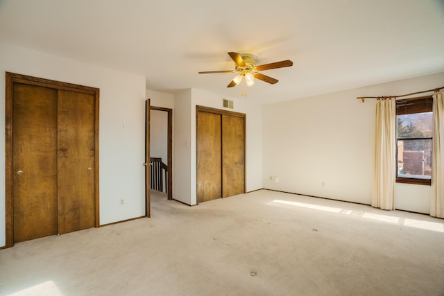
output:
<svg viewBox="0 0 444 296"><path fill-rule="evenodd" d="M444 71L443 0L0 0L0 42L273 103ZM228 51L259 53L280 80L226 85ZM444 85L444 83L443 83Z"/></svg>

